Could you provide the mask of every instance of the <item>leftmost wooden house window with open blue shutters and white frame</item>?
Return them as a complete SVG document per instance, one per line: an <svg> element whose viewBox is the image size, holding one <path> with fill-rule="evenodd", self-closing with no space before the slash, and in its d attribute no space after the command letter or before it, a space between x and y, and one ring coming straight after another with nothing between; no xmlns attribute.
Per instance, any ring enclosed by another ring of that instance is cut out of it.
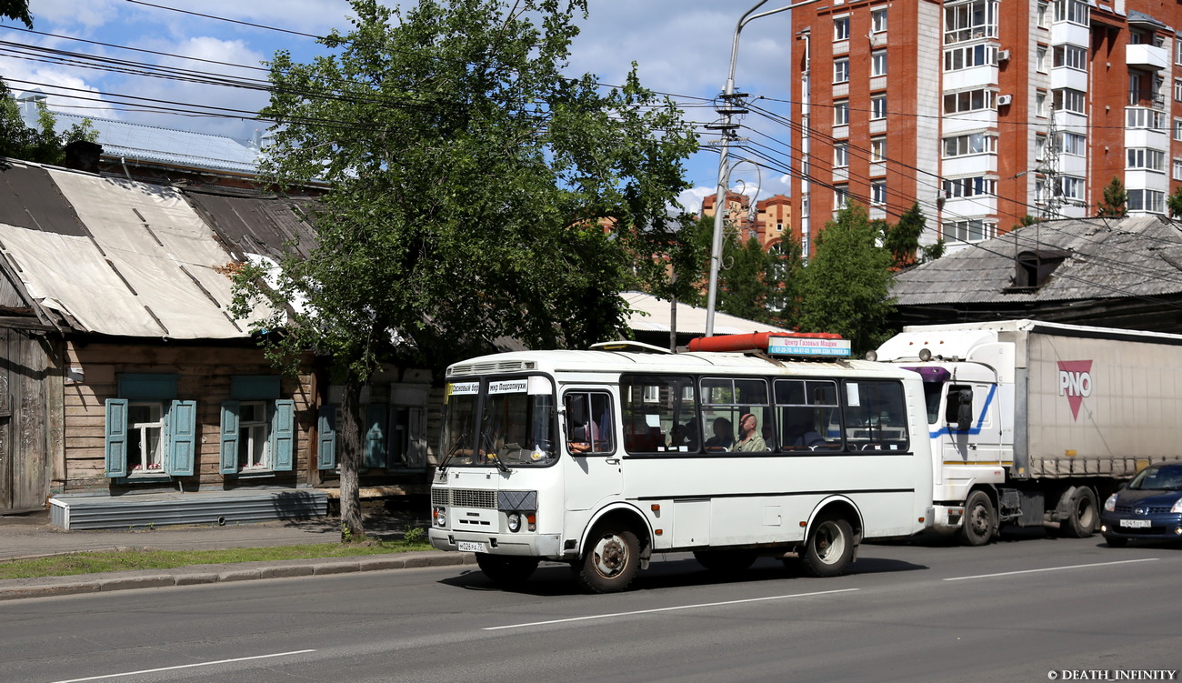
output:
<svg viewBox="0 0 1182 683"><path fill-rule="evenodd" d="M104 474L112 479L188 476L196 444L196 402L178 401L176 375L119 373L105 402Z"/></svg>

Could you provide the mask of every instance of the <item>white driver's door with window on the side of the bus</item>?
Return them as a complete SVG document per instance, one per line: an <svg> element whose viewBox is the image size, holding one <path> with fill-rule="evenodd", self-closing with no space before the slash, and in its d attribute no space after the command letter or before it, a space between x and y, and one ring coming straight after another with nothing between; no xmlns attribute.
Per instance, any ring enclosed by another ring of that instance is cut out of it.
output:
<svg viewBox="0 0 1182 683"><path fill-rule="evenodd" d="M563 408L566 509L596 509L624 490L612 393L606 388L567 389Z"/></svg>

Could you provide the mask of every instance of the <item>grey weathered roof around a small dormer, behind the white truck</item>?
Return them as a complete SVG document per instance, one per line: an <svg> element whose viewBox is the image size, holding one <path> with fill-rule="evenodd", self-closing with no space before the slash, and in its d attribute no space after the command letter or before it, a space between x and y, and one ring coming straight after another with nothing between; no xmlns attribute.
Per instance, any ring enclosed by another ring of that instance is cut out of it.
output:
<svg viewBox="0 0 1182 683"><path fill-rule="evenodd" d="M1066 252L1037 288L1013 287L1024 252ZM897 274L900 305L1048 303L1182 293L1182 229L1161 216L1070 219L1019 228Z"/></svg>

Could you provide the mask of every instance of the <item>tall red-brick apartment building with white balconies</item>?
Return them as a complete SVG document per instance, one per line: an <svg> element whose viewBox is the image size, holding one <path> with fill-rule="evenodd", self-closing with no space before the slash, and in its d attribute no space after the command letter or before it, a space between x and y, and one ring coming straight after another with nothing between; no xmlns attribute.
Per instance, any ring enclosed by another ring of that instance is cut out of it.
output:
<svg viewBox="0 0 1182 683"><path fill-rule="evenodd" d="M792 230L846 197L918 201L949 249L1024 216L1093 216L1113 177L1164 214L1182 181L1182 5L831 0L792 12ZM806 251L806 253L808 253Z"/></svg>

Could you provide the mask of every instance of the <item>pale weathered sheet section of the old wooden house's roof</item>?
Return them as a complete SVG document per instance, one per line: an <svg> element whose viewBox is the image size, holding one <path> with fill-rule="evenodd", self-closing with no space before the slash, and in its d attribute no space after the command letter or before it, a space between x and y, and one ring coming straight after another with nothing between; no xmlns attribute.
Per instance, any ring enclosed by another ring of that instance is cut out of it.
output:
<svg viewBox="0 0 1182 683"><path fill-rule="evenodd" d="M18 167L35 168L13 162ZM245 326L228 314L232 281L217 272L232 256L177 190L40 170L56 186L45 188L43 199L47 204L67 202L85 230L70 234L0 223L4 253L35 301L84 332L247 337ZM0 186L0 193L7 187ZM6 193L0 204L11 200ZM30 203L30 197L24 201L37 215L40 204Z"/></svg>

